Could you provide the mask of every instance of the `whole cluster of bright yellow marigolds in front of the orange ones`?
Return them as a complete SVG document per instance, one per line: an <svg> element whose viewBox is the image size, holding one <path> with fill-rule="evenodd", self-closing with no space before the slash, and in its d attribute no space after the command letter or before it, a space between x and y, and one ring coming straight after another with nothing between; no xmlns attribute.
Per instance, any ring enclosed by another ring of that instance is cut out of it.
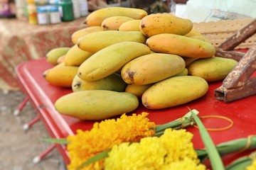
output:
<svg viewBox="0 0 256 170"><path fill-rule="evenodd" d="M105 170L167 170L169 167L204 170L206 166L198 165L197 154L191 145L192 137L186 130L166 129L161 137L145 137L140 142L116 145L105 159Z"/></svg>

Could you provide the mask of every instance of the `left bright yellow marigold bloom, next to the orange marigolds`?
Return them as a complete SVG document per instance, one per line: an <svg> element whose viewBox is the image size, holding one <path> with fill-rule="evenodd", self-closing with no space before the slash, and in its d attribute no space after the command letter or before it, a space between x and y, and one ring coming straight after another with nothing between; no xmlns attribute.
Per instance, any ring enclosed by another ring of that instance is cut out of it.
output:
<svg viewBox="0 0 256 170"><path fill-rule="evenodd" d="M146 137L141 142L127 142L112 147L105 159L105 170L160 169L167 154L157 137Z"/></svg>

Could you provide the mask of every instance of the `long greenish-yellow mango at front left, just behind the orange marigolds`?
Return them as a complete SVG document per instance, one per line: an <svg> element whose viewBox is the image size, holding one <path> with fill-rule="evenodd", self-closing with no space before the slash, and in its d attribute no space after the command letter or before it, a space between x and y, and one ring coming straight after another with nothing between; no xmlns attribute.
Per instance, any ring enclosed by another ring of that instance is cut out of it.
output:
<svg viewBox="0 0 256 170"><path fill-rule="evenodd" d="M76 91L55 101L56 110L80 120L104 120L129 113L139 106L133 94L107 90Z"/></svg>

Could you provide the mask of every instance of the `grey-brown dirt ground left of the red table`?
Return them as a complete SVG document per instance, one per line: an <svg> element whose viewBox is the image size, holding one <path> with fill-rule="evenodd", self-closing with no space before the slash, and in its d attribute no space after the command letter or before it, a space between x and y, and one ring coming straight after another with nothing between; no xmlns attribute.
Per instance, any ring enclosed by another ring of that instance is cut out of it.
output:
<svg viewBox="0 0 256 170"><path fill-rule="evenodd" d="M49 137L49 135L41 121L28 130L23 129L23 125L37 116L29 102L19 115L14 115L14 111L23 98L24 95L21 91L0 90L0 169L66 169L56 148L38 164L33 163L34 157L50 147L49 143L40 141L41 138Z"/></svg>

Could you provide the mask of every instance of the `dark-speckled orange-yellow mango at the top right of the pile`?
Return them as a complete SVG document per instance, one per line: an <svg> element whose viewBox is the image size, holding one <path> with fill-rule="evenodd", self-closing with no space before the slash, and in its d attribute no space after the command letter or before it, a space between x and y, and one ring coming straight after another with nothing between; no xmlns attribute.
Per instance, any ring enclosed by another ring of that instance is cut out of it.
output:
<svg viewBox="0 0 256 170"><path fill-rule="evenodd" d="M193 28L189 19L179 18L171 13L152 13L142 18L139 29L147 37L161 33L186 35Z"/></svg>

